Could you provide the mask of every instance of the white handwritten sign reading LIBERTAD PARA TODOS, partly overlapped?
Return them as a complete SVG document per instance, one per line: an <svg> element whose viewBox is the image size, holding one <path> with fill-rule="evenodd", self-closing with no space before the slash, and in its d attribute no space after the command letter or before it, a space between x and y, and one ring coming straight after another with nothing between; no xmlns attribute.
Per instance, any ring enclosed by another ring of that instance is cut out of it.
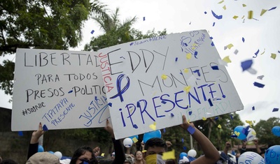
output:
<svg viewBox="0 0 280 164"><path fill-rule="evenodd" d="M18 49L12 131L105 126L103 80L97 52Z"/></svg>

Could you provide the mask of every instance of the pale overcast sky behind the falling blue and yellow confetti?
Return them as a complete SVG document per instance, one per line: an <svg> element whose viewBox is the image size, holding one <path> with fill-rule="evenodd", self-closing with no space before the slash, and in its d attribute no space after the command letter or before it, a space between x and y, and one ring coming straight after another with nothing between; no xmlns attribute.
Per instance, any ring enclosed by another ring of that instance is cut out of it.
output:
<svg viewBox="0 0 280 164"><path fill-rule="evenodd" d="M167 33L207 29L214 38L221 58L229 56L232 61L227 69L244 104L244 110L237 112L241 120L258 122L260 119L267 120L269 117L280 116L280 111L272 112L274 108L280 107L279 0L102 0L101 2L108 5L107 8L110 10L120 8L120 20L137 16L134 28L144 33L152 29L155 31L167 29ZM271 8L272 10L269 10ZM267 11L260 16L262 9ZM218 20L212 14L212 10L216 15L223 15L223 18ZM253 19L250 20L249 10L253 11ZM234 16L237 18L234 19ZM92 30L93 34L90 33ZM72 50L83 50L83 46L90 42L92 36L96 37L102 33L96 22L87 21L83 28L83 42ZM230 43L233 47L224 50ZM271 58L272 53L276 54L276 59ZM253 59L252 68L257 71L255 75L242 71L241 61L247 59ZM0 59L2 60L3 58ZM262 80L257 78L260 75L264 75ZM265 87L255 87L254 82L265 84ZM3 94L3 91L0 92L1 107L12 108L12 104L8 103L9 99L10 97Z"/></svg>

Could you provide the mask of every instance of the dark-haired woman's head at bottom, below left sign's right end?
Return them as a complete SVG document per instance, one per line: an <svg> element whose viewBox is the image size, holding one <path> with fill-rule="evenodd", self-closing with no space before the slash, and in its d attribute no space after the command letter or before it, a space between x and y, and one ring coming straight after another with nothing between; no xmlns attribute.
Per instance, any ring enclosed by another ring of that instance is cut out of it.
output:
<svg viewBox="0 0 280 164"><path fill-rule="evenodd" d="M93 154L92 148L83 146L74 152L70 164L81 164L87 162L89 164L97 164L97 160Z"/></svg>

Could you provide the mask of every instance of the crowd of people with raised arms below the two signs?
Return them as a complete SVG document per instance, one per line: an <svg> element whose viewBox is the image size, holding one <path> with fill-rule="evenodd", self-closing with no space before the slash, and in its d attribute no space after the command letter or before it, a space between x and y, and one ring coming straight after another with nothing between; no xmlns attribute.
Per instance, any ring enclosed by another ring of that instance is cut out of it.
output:
<svg viewBox="0 0 280 164"><path fill-rule="evenodd" d="M125 148L121 142L121 140L116 140L113 128L109 122L106 121L106 127L104 128L110 135L111 140L113 142L113 153L111 154L110 159L99 158L100 157L100 148L95 147L92 149L90 146L79 147L74 151L71 159L68 160L60 160L54 154L50 154L49 152L38 152L38 140L45 133L42 128L42 124L38 125L38 131L34 131L31 135L31 140L29 143L29 149L27 153L27 162L30 163L52 163L52 164L219 164L219 163L230 163L235 164L229 156L227 155L230 151L230 142L225 143L225 148L223 151L218 151L216 147L211 143L211 141L200 132L193 123L188 123L186 117L183 115L182 117L183 124L181 124L181 128L190 133L192 137L200 144L200 147L203 151L203 155L198 158L188 158L188 156L183 159L175 160L175 159L162 159L162 155L167 152L167 147L172 145L171 142L165 142L159 137L152 137L147 140L146 143L141 144L142 149L137 150L134 154L130 152L130 149L127 149L125 152ZM264 151L260 150L258 147L258 140L254 140L255 146L257 148L258 154L264 156ZM237 161L240 154L246 151L246 142L244 141L242 144L242 149L240 153L237 153ZM0 156L0 164L17 164L13 160L2 160Z"/></svg>

